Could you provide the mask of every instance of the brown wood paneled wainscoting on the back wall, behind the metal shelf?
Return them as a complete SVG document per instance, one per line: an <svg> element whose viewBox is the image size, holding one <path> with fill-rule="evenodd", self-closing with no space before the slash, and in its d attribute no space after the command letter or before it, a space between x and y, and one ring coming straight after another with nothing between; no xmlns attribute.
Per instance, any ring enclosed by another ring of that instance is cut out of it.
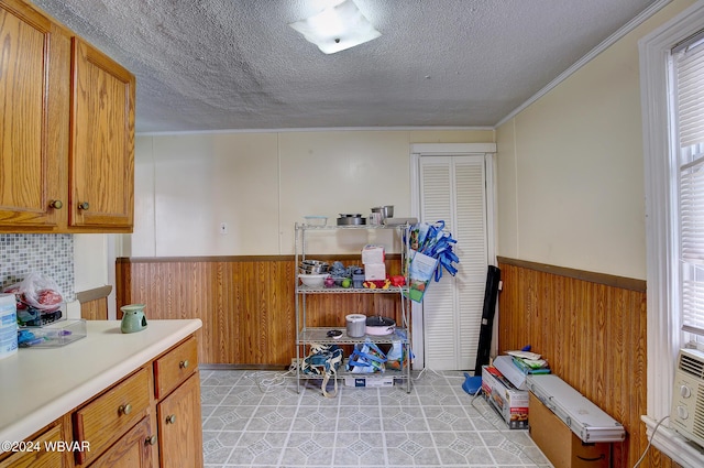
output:
<svg viewBox="0 0 704 468"><path fill-rule="evenodd" d="M359 255L308 257L361 264ZM201 363L280 369L296 356L294 263L294 255L120 258L117 305L146 304L147 320L200 318ZM386 255L386 269L398 274L400 255ZM344 328L345 315L366 313L400 323L398 303L392 294L309 295L306 319Z"/></svg>

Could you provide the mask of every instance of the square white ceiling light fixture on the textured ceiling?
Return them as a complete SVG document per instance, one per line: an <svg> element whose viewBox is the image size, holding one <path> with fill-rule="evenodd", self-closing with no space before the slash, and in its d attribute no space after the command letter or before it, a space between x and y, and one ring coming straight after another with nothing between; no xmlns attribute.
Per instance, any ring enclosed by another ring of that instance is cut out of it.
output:
<svg viewBox="0 0 704 468"><path fill-rule="evenodd" d="M334 54L382 35L352 0L328 7L314 17L290 23L289 26L326 54Z"/></svg>

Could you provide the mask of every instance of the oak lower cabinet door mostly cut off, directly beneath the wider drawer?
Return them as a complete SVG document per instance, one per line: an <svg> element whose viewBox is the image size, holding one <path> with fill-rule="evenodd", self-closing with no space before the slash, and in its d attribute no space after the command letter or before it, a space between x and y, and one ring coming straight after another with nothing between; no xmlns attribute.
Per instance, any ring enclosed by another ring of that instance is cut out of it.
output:
<svg viewBox="0 0 704 468"><path fill-rule="evenodd" d="M152 431L145 416L122 438L90 465L91 468L147 468L152 467Z"/></svg>

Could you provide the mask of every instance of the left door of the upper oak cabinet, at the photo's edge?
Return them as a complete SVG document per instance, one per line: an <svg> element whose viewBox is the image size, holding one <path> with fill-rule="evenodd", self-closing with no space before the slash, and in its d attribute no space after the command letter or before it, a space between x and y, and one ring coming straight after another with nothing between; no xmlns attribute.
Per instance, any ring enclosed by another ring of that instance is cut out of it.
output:
<svg viewBox="0 0 704 468"><path fill-rule="evenodd" d="M69 33L0 0L0 231L66 224L69 78Z"/></svg>

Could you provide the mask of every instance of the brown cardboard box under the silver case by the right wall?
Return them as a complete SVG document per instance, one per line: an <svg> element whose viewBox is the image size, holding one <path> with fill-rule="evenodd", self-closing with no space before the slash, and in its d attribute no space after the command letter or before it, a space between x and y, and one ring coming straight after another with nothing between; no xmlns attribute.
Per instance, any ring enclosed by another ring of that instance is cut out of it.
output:
<svg viewBox="0 0 704 468"><path fill-rule="evenodd" d="M529 392L530 438L556 468L606 468L610 443L583 443L553 412Z"/></svg>

